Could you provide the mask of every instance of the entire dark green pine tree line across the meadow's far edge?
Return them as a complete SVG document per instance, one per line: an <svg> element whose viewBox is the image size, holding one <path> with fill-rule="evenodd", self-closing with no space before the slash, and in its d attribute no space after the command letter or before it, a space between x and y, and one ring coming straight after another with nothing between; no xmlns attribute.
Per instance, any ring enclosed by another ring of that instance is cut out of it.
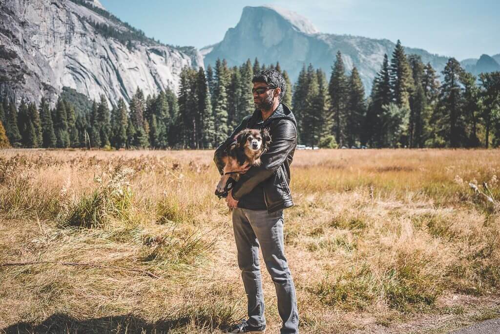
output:
<svg viewBox="0 0 500 334"><path fill-rule="evenodd" d="M60 97L50 109L4 98L0 103L0 147L214 148L254 111L251 78L263 69L283 74L283 102L297 119L299 143L319 147L488 147L500 145L500 72L464 71L450 58L439 82L430 64L406 55L398 41L365 96L357 69L346 72L337 53L329 81L320 69L303 66L291 85L279 63L247 60L228 67L217 60L206 71L185 67L178 92L166 90L109 106ZM175 94L177 93L177 94Z"/></svg>

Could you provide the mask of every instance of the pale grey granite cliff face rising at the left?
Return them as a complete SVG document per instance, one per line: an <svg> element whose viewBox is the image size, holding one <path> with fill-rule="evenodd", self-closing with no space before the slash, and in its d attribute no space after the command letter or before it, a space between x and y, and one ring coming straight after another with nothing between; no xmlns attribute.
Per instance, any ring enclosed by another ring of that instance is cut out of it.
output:
<svg viewBox="0 0 500 334"><path fill-rule="evenodd" d="M68 86L115 104L135 90L178 89L184 66L203 66L194 48L160 45L107 13L98 0L2 0L0 94L51 102Z"/></svg>

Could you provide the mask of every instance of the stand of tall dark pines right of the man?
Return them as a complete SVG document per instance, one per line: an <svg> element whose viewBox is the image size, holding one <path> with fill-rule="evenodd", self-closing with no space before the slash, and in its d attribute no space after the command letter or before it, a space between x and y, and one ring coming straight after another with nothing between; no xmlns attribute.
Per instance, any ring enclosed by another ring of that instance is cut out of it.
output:
<svg viewBox="0 0 500 334"><path fill-rule="evenodd" d="M477 77L448 59L439 82L420 56L397 41L365 98L359 73L337 53L329 83L302 68L293 111L303 144L320 147L495 147L500 145L500 72Z"/></svg>

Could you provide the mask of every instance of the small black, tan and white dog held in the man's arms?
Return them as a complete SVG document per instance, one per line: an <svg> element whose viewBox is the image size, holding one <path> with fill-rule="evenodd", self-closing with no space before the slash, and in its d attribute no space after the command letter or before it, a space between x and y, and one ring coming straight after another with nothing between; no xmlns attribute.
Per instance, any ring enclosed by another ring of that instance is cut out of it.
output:
<svg viewBox="0 0 500 334"><path fill-rule="evenodd" d="M227 197L228 191L249 167L260 166L260 156L267 151L271 142L267 129L244 129L234 139L236 141L222 153L224 169L215 190L219 198Z"/></svg>

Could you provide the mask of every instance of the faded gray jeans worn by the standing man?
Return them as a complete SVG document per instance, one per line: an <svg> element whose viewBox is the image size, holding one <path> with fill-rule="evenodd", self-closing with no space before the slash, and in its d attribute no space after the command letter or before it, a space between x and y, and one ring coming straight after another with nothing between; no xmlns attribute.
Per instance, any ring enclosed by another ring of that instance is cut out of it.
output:
<svg viewBox="0 0 500 334"><path fill-rule="evenodd" d="M254 326L265 324L264 295L258 260L260 245L265 267L276 288L278 312L283 320L281 334L298 333L295 286L284 256L283 210L268 214L267 210L235 208L232 211L232 227L236 239L238 265L248 298L248 322Z"/></svg>

